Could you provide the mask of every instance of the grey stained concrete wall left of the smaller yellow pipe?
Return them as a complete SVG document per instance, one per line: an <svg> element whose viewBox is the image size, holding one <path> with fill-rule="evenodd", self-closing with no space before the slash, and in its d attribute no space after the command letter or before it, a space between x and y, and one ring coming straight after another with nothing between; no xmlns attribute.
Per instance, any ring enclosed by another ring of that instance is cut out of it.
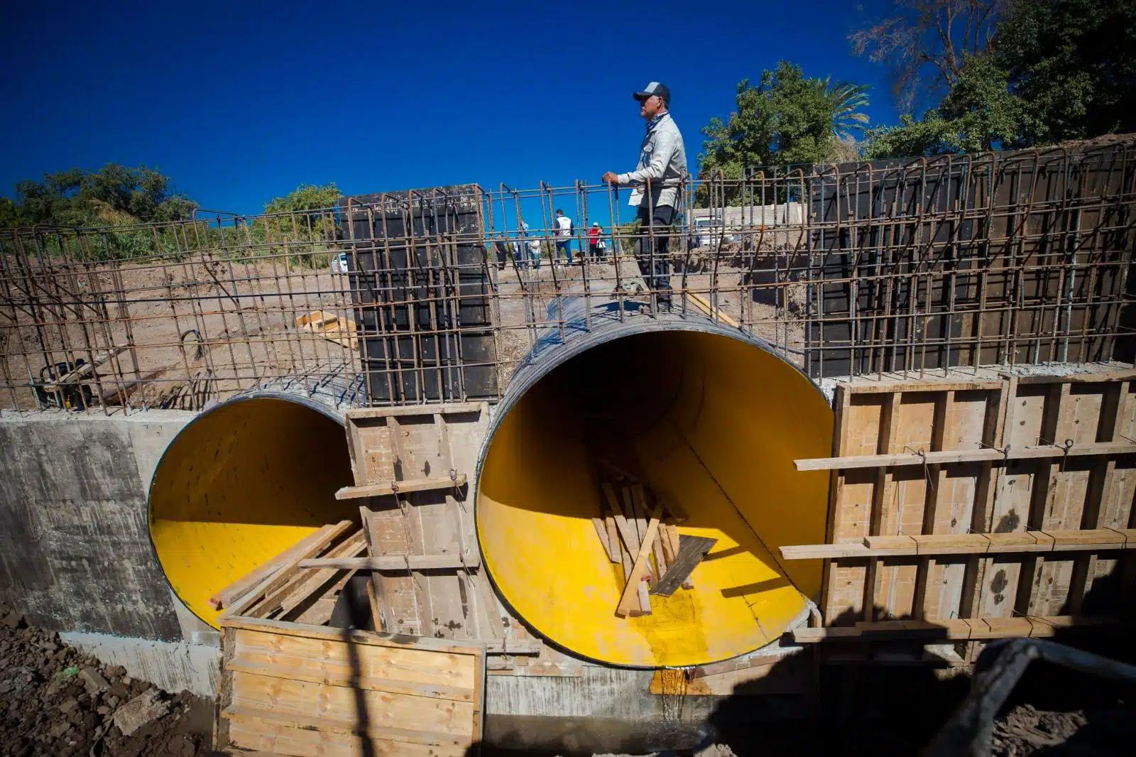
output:
<svg viewBox="0 0 1136 757"><path fill-rule="evenodd" d="M193 413L0 415L0 599L173 690L212 693L217 634L150 546L147 490Z"/></svg>

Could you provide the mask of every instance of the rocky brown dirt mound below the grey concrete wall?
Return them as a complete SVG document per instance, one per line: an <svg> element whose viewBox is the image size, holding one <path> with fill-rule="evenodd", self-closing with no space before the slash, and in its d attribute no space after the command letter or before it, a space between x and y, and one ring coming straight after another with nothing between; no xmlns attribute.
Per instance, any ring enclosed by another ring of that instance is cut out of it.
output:
<svg viewBox="0 0 1136 757"><path fill-rule="evenodd" d="M209 755L210 722L209 700L131 679L0 605L3 757Z"/></svg>

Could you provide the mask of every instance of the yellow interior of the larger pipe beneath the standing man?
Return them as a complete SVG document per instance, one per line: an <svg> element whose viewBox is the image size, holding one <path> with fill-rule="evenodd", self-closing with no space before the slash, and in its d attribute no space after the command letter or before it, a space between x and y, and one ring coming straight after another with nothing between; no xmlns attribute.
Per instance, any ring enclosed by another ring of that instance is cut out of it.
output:
<svg viewBox="0 0 1136 757"><path fill-rule="evenodd" d="M482 467L477 533L503 598L537 632L587 658L698 665L772 641L820 585L816 560L783 544L825 536L833 414L799 371L729 336L652 332L553 369L501 421ZM680 505L680 534L717 543L693 590L615 614L623 568L608 560L595 459L632 469Z"/></svg>

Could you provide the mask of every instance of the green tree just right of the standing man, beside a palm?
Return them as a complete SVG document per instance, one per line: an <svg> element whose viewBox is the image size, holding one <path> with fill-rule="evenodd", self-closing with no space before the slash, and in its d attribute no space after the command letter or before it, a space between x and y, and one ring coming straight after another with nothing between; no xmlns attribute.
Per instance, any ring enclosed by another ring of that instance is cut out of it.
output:
<svg viewBox="0 0 1136 757"><path fill-rule="evenodd" d="M816 164L841 151L840 138L867 123L859 111L868 103L860 85L807 78L800 66L782 60L766 69L757 86L737 84L737 109L702 128L700 176L717 172L742 178L750 166Z"/></svg>

